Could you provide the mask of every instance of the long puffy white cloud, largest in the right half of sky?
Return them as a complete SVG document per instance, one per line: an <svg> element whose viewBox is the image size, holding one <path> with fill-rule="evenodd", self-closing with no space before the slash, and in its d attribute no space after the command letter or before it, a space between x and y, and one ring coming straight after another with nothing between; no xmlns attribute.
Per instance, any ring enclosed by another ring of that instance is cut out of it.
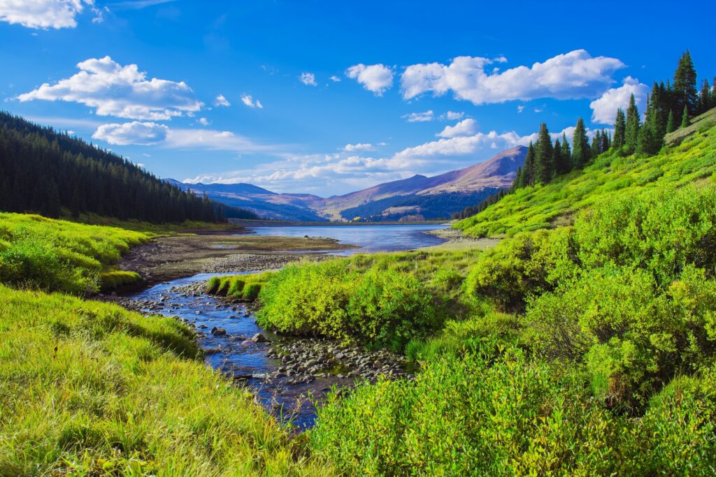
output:
<svg viewBox="0 0 716 477"><path fill-rule="evenodd" d="M612 74L625 65L619 59L593 58L587 51L559 54L531 67L520 66L502 73L485 73L500 59L458 56L450 64L414 64L401 77L404 99L427 92L440 96L453 92L455 99L490 104L537 98L579 99L595 97L614 82Z"/></svg>

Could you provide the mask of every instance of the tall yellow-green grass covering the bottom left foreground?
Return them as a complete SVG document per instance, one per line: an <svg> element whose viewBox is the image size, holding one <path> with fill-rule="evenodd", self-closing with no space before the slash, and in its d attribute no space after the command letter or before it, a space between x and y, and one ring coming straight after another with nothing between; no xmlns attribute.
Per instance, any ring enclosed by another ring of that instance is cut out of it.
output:
<svg viewBox="0 0 716 477"><path fill-rule="evenodd" d="M323 476L172 318L0 285L0 475Z"/></svg>

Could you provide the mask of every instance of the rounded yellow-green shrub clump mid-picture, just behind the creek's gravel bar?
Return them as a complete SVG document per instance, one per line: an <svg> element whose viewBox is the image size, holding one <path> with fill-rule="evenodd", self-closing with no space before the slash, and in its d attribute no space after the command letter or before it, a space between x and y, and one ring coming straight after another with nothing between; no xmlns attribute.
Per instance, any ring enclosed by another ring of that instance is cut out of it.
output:
<svg viewBox="0 0 716 477"><path fill-rule="evenodd" d="M284 333L402 350L439 328L432 297L410 272L341 260L289 265L263 286L258 323Z"/></svg>

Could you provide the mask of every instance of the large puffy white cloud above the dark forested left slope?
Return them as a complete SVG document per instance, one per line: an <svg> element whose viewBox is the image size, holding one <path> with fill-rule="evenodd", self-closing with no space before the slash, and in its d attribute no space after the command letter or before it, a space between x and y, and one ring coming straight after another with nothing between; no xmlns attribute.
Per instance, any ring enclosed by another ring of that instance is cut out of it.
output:
<svg viewBox="0 0 716 477"><path fill-rule="evenodd" d="M79 73L72 77L52 86L44 83L32 92L20 94L18 99L78 102L95 108L99 116L155 121L191 114L203 106L186 83L147 80L136 64L122 67L110 56L87 59L77 68Z"/></svg>

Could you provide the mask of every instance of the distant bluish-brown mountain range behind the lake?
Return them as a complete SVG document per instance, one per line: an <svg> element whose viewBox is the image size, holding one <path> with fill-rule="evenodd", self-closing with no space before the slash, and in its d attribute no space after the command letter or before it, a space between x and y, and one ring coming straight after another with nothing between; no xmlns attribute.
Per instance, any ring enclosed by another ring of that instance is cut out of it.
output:
<svg viewBox="0 0 716 477"><path fill-rule="evenodd" d="M279 194L252 184L168 182L203 193L217 202L266 218L296 221L430 220L450 217L469 205L510 187L527 148L516 146L494 157L433 177L414 175L332 197Z"/></svg>

